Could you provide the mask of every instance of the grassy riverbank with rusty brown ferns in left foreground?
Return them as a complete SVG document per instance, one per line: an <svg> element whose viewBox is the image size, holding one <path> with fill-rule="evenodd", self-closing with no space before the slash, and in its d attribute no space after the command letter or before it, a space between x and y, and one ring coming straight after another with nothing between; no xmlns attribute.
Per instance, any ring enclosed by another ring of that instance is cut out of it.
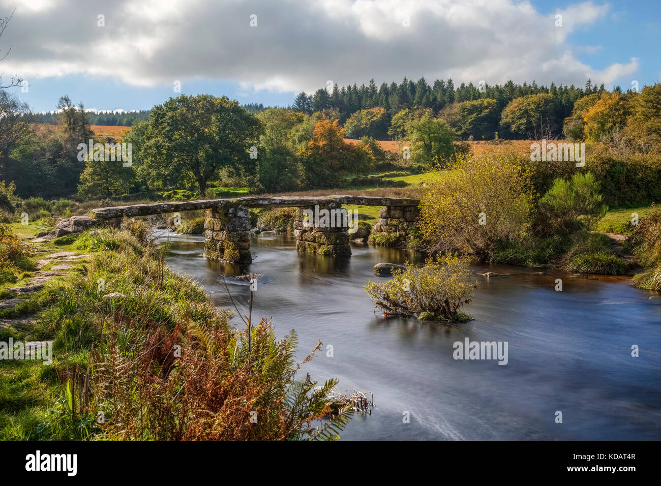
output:
<svg viewBox="0 0 661 486"><path fill-rule="evenodd" d="M52 340L54 357L0 362L0 437L336 438L348 417L329 422L337 382L296 378L295 332L278 341L266 319L250 333L230 321L163 264L148 229L127 222L79 235L67 249L89 258L14 311L34 319L3 336Z"/></svg>

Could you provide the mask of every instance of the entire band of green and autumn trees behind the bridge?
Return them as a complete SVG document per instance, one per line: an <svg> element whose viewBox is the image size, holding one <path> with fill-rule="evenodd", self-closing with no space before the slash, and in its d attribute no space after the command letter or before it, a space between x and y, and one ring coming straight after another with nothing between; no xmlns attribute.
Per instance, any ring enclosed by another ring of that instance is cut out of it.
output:
<svg viewBox="0 0 661 486"><path fill-rule="evenodd" d="M434 83L439 89L448 84ZM607 143L611 155L621 159L656 153L661 146L661 84L644 87L641 93L607 91L591 83L586 89L561 87L548 93L534 83L521 87L506 83L505 89L487 86L486 93L496 97L529 92L507 102L502 110L499 106L506 99L485 97L471 85L446 90L445 95L452 93L447 99L439 96L442 91L432 97L433 87L424 89L421 105L416 104L418 91L410 101L408 87L409 81L395 89L395 98L408 99L410 104L399 104L401 109L394 114L389 95L389 109L362 108L344 123L332 106L310 113L296 105L262 110L263 106L253 104L256 112L251 113L227 97L180 95L149 110L147 120L134 123L121 137L132 144L133 161L128 167L106 156L79 157L79 144L90 138L115 142L95 137L91 114L82 104L75 106L69 97L62 97L53 115L55 125L34 124L24 102L0 91L0 129L5 134L0 139L0 181L14 182L19 196L44 198L108 198L182 188L205 195L214 186L285 192L341 187L350 181L364 185L361 177L379 169L419 173L442 167L469 150L461 140L492 138L496 131L512 138L564 134L571 140ZM350 92L354 91L352 87ZM400 97L404 91L407 95ZM457 98L457 93L462 94ZM562 99L581 93L572 101L572 110L557 111ZM474 99L457 101L463 97ZM433 103L441 99L449 104L437 111ZM558 118L558 113L567 116ZM401 141L402 153L379 147L375 139L383 138L384 132ZM361 140L346 143L346 136Z"/></svg>

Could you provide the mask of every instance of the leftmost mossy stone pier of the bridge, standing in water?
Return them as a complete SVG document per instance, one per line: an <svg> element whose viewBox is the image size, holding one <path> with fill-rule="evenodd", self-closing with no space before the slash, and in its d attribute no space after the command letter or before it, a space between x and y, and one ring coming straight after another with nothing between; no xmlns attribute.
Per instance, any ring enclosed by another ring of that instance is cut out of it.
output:
<svg viewBox="0 0 661 486"><path fill-rule="evenodd" d="M204 256L229 263L251 263L251 223L245 206L223 206L207 210L204 221Z"/></svg>

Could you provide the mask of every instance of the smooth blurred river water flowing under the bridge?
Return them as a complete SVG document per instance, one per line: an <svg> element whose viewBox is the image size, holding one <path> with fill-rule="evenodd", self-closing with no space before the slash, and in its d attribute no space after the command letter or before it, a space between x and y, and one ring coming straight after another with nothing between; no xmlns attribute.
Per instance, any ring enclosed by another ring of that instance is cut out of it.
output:
<svg viewBox="0 0 661 486"><path fill-rule="evenodd" d="M384 317L363 289L383 280L375 264L422 261L414 252L352 245L351 257L316 257L297 253L292 236L262 233L251 241L253 264L239 268L205 259L202 236L163 239L169 266L219 306L232 307L221 272L245 313L249 284L233 276L264 273L253 321L271 317L278 336L295 329L300 359L321 340L302 369L313 379L373 391L372 415L354 418L343 439L661 439L661 296L625 278L475 266L508 275L476 276L465 307L475 319L449 325ZM455 360L453 343L465 338L506 341L508 363Z"/></svg>

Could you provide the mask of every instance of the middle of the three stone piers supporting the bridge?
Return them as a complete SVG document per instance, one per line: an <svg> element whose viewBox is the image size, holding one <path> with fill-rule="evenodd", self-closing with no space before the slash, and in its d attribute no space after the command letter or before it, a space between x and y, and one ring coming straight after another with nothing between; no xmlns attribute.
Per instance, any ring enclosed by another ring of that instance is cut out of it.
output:
<svg viewBox="0 0 661 486"><path fill-rule="evenodd" d="M309 218L312 221L306 223L305 210L310 210L317 218L313 216ZM323 220L324 210L327 210L329 215L326 222ZM342 211L343 218L340 211L342 206L333 202L297 208L296 220L293 223L296 251L315 255L351 255L346 210Z"/></svg>

